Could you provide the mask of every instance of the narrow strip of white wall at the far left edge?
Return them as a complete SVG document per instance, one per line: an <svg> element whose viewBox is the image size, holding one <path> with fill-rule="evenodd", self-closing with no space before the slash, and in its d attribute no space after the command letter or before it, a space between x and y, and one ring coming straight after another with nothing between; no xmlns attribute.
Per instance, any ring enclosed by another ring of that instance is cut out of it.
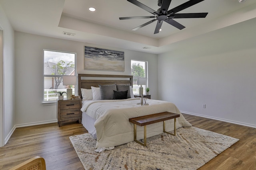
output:
<svg viewBox="0 0 256 170"><path fill-rule="evenodd" d="M3 65L0 64L2 70L3 84L0 89L1 98L1 113L0 123L0 147L8 140L11 131L15 125L14 122L14 30L6 17L2 6L0 5L0 27L3 30ZM1 80L2 81L2 80ZM2 121L1 121L2 120ZM3 134L2 134L3 133ZM3 139L4 138L4 139Z"/></svg>

